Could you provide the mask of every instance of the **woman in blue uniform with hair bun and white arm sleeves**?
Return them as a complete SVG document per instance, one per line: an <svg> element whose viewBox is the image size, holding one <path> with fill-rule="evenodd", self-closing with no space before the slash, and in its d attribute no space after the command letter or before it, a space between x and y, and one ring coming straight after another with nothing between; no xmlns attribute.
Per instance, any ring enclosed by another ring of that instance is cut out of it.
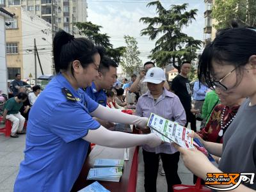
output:
<svg viewBox="0 0 256 192"><path fill-rule="evenodd" d="M31 108L24 161L14 191L70 191L83 166L88 142L116 148L161 144L156 134L108 131L93 120L96 116L141 129L148 120L100 106L79 89L90 86L97 76L102 48L59 31L53 53L57 76Z"/></svg>

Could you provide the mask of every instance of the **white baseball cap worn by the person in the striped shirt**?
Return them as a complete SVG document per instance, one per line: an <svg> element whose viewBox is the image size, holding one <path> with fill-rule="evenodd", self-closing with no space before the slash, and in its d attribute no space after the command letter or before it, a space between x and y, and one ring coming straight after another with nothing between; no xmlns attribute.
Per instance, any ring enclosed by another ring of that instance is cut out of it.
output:
<svg viewBox="0 0 256 192"><path fill-rule="evenodd" d="M154 84L159 84L166 81L164 70L159 67L152 67L148 70L143 82L149 82Z"/></svg>

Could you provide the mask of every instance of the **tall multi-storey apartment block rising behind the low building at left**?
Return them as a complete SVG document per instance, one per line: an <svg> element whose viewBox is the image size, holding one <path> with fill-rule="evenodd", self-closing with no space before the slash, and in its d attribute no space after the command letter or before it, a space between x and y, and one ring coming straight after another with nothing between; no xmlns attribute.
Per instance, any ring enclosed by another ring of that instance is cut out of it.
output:
<svg viewBox="0 0 256 192"><path fill-rule="evenodd" d="M0 7L22 6L28 12L52 23L54 31L59 28L68 33L74 31L75 22L86 22L86 0L0 0Z"/></svg>

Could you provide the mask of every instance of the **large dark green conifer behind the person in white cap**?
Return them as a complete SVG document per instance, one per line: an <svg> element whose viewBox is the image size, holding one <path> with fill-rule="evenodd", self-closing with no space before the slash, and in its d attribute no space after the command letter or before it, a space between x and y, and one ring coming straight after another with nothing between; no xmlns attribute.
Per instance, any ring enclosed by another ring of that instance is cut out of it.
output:
<svg viewBox="0 0 256 192"><path fill-rule="evenodd" d="M182 60L193 61L197 58L196 50L200 49L202 41L182 33L182 28L189 26L195 20L197 10L186 12L187 3L172 5L166 10L160 1L148 3L156 6L156 17L142 17L140 19L148 27L141 30L141 35L148 35L150 40L156 40L156 47L152 49L149 58L163 67L170 63L180 71ZM178 64L175 64L177 62Z"/></svg>

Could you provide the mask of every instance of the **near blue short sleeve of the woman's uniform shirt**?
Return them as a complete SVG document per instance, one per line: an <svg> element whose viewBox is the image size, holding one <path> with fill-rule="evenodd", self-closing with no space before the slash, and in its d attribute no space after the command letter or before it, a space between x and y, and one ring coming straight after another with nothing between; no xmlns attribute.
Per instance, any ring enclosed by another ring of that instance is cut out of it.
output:
<svg viewBox="0 0 256 192"><path fill-rule="evenodd" d="M99 122L93 120L85 109L75 102L62 102L52 109L50 130L66 143L83 138L89 129L98 129Z"/></svg>

